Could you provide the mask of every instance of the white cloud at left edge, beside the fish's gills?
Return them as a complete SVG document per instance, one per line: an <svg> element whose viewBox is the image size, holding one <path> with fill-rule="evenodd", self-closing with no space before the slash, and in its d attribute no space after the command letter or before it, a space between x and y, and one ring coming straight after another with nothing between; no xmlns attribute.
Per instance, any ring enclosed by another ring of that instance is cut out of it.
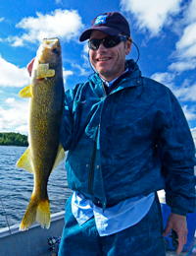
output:
<svg viewBox="0 0 196 256"><path fill-rule="evenodd" d="M26 68L19 68L1 56L0 78L0 87L23 87L30 81Z"/></svg>

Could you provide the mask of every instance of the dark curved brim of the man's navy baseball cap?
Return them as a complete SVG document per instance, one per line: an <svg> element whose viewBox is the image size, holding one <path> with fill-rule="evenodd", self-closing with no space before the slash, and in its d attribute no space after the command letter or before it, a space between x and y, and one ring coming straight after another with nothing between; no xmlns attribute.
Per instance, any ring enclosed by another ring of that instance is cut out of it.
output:
<svg viewBox="0 0 196 256"><path fill-rule="evenodd" d="M93 31L106 32L106 33L108 33L110 35L117 35L117 34L121 33L120 30L109 28L109 27L100 26L100 27L95 27L95 28L89 29L89 30L87 30L85 32L82 32L80 37L79 37L79 40L80 41L84 41L84 40L89 39L90 38L90 34Z"/></svg>

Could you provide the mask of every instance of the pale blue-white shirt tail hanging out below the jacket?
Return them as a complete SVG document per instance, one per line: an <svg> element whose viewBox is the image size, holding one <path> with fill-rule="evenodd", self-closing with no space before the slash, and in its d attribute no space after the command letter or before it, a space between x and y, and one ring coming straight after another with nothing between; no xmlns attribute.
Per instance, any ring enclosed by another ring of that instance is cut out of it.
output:
<svg viewBox="0 0 196 256"><path fill-rule="evenodd" d="M100 236L110 235L138 224L150 210L155 199L155 193L148 196L136 196L120 202L114 207L102 208L94 205L79 192L73 192L72 211L79 225L94 216Z"/></svg>

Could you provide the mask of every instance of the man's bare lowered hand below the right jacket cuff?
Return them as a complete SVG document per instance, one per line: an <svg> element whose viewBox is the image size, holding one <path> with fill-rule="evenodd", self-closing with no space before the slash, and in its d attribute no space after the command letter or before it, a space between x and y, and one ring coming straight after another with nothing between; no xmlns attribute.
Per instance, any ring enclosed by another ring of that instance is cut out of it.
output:
<svg viewBox="0 0 196 256"><path fill-rule="evenodd" d="M178 246L176 253L179 254L182 249L183 245L186 244L187 241L187 224L186 224L186 217L176 214L171 214L168 219L167 226L163 232L163 236L166 236L170 233L170 231L174 230L177 234L178 238Z"/></svg>

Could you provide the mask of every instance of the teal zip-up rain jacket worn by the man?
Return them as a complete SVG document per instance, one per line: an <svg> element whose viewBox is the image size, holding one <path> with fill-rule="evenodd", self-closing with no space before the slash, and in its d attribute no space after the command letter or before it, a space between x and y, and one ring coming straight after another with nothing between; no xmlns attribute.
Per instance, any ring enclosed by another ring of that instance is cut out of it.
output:
<svg viewBox="0 0 196 256"><path fill-rule="evenodd" d="M133 60L108 96L95 74L66 92L60 141L71 189L103 208L166 190L172 213L195 209L195 147L169 88L142 77Z"/></svg>

